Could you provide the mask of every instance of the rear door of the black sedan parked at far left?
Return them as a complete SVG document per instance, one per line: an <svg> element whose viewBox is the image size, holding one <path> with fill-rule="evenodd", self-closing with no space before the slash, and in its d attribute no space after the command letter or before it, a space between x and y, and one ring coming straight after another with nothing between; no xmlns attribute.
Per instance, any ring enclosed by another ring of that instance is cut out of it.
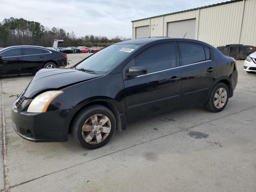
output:
<svg viewBox="0 0 256 192"><path fill-rule="evenodd" d="M50 51L41 48L25 47L23 48L23 61L25 72L37 72L43 68L44 62Z"/></svg>

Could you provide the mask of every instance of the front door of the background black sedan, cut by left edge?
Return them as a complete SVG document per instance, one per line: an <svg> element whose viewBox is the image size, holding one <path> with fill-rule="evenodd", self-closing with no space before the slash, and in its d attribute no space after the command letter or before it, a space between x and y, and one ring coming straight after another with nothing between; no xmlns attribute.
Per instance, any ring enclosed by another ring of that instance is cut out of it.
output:
<svg viewBox="0 0 256 192"><path fill-rule="evenodd" d="M24 66L22 48L10 48L0 53L0 74L19 74Z"/></svg>

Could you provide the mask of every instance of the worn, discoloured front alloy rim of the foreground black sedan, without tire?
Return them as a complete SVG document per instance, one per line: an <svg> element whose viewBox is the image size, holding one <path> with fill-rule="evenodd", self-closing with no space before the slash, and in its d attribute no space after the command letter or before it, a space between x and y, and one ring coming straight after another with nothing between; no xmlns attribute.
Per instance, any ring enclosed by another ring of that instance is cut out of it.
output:
<svg viewBox="0 0 256 192"><path fill-rule="evenodd" d="M88 144L99 144L103 142L111 130L109 118L103 114L90 116L82 127L82 137Z"/></svg>

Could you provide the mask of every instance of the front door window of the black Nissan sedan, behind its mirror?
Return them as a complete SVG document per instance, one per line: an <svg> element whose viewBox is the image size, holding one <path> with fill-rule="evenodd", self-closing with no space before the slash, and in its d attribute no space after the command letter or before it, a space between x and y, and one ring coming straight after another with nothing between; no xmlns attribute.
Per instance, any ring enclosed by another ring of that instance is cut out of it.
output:
<svg viewBox="0 0 256 192"><path fill-rule="evenodd" d="M160 44L141 52L134 59L135 66L142 66L148 73L176 67L175 44Z"/></svg>

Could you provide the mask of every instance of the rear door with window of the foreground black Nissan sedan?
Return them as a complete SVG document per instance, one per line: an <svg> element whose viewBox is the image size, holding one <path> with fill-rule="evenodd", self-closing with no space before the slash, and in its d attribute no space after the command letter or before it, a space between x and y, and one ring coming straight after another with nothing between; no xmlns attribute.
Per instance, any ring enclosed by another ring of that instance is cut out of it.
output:
<svg viewBox="0 0 256 192"><path fill-rule="evenodd" d="M217 66L210 48L179 43L182 72L182 106L204 102L216 79Z"/></svg>

